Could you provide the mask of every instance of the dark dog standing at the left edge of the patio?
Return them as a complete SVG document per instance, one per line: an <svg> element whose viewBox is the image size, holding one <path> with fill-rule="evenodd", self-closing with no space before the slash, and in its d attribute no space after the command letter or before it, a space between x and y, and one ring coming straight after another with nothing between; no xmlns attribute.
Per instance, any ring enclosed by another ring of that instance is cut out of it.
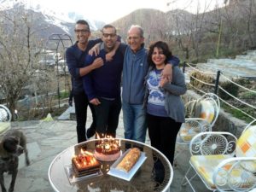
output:
<svg viewBox="0 0 256 192"><path fill-rule="evenodd" d="M2 192L6 192L4 187L3 173L9 172L12 175L12 180L9 185L9 192L15 189L15 181L18 173L19 155L25 153L26 166L29 166L26 149L26 137L21 131L8 131L0 143L0 184Z"/></svg>

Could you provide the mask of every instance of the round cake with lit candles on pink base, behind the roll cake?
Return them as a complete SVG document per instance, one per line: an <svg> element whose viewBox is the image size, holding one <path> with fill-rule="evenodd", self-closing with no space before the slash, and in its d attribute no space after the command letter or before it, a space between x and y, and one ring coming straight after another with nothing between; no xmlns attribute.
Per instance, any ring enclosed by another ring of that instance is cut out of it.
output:
<svg viewBox="0 0 256 192"><path fill-rule="evenodd" d="M98 160L113 161L120 156L119 140L113 138L104 138L96 142L95 157Z"/></svg>

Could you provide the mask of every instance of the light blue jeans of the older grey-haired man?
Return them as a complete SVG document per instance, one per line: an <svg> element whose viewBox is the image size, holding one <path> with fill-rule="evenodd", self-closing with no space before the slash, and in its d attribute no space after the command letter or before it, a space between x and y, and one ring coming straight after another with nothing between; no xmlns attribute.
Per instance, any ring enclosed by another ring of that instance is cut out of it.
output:
<svg viewBox="0 0 256 192"><path fill-rule="evenodd" d="M147 124L143 104L134 105L123 101L123 119L125 138L145 143Z"/></svg>

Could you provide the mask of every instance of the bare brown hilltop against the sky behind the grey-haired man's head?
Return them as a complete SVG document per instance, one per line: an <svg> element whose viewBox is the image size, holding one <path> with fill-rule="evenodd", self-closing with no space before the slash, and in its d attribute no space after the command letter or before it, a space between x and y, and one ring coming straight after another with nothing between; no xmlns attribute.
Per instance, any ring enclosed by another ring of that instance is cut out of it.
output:
<svg viewBox="0 0 256 192"><path fill-rule="evenodd" d="M193 14L180 9L167 13L157 9L137 9L131 12L130 15L126 15L114 21L112 24L118 28L119 34L122 37L126 37L127 31L131 25L142 26L146 44L148 44L150 43L149 41L163 38L169 34L176 34L176 20L182 19L188 21L191 20L193 16ZM186 28L186 22L180 22L179 27L184 30L184 28Z"/></svg>

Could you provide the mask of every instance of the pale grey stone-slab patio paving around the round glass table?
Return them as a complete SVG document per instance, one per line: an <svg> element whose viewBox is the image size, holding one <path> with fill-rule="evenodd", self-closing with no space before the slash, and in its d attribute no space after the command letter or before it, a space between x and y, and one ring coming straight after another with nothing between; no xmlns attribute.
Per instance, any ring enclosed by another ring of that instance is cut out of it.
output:
<svg viewBox="0 0 256 192"><path fill-rule="evenodd" d="M65 114L66 119L68 119L68 113L72 113L72 111L73 108L67 109L67 113ZM62 117L64 117L63 114ZM87 123L88 127L91 123L90 113ZM26 134L27 148L31 160L31 165L25 166L24 155L20 155L20 166L15 183L15 192L52 192L53 189L48 180L49 165L56 154L77 143L76 122L73 120L13 122L12 129L21 130ZM117 137L124 137L122 112L119 117ZM148 136L146 143L150 143ZM188 186L180 188L183 175L189 167L188 146L177 146L177 150L183 153L177 157L177 166L173 168L174 177L171 191L191 191ZM4 178L5 185L9 187L10 176L5 174ZM208 191L202 183L196 183L195 186L198 191Z"/></svg>

